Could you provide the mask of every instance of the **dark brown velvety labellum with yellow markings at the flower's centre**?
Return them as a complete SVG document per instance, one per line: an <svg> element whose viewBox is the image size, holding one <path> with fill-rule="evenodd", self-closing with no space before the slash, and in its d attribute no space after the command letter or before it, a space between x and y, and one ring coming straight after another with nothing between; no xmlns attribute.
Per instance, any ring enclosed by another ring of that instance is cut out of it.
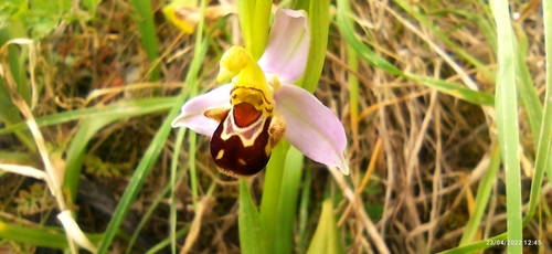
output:
<svg viewBox="0 0 552 254"><path fill-rule="evenodd" d="M285 131L282 117L264 117L247 103L208 110L205 116L221 119L211 137L211 156L221 172L236 178L254 176L265 168L272 148Z"/></svg>

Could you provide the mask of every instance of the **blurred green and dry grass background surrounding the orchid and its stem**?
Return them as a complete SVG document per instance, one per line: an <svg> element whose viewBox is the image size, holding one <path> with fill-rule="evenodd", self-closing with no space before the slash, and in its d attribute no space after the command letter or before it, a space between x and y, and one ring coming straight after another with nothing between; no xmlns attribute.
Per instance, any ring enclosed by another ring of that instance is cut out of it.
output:
<svg viewBox="0 0 552 254"><path fill-rule="evenodd" d="M60 209L100 251L240 252L244 187L208 137L169 126L242 43L225 3L188 33L163 1L0 3L0 252L74 248ZM304 162L290 250L550 252L551 23L540 0L331 2L315 94L351 174L288 152ZM265 181L248 181L256 204Z"/></svg>

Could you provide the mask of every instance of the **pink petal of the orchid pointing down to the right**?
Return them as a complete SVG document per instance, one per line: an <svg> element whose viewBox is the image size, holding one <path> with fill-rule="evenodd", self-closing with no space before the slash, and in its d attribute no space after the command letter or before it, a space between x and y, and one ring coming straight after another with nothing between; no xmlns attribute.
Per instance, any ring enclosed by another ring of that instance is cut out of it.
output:
<svg viewBox="0 0 552 254"><path fill-rule="evenodd" d="M283 84L275 94L276 112L286 119L285 138L304 155L349 174L343 157L347 136L341 121L309 92Z"/></svg>

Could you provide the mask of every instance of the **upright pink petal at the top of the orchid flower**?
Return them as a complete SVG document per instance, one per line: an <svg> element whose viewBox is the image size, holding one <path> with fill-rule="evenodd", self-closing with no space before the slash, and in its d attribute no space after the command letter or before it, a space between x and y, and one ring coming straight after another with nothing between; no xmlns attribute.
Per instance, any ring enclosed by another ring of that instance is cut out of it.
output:
<svg viewBox="0 0 552 254"><path fill-rule="evenodd" d="M279 9L268 36L268 45L258 65L265 73L277 74L282 82L302 77L307 65L310 27L305 11Z"/></svg>

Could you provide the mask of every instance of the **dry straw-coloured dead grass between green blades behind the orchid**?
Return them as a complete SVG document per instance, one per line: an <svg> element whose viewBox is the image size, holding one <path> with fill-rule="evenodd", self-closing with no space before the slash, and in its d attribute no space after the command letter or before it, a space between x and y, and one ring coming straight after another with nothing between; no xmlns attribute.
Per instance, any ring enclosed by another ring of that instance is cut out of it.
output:
<svg viewBox="0 0 552 254"><path fill-rule="evenodd" d="M535 2L535 1L531 1ZM156 4L159 4L157 2ZM425 10L426 18L440 29L459 47L486 64L495 73L495 53L480 29L470 20L446 10L465 10L484 13L480 6L467 1L412 2ZM114 102L137 97L168 96L178 92L189 68L194 46L193 35L182 35L168 23L157 7L157 32L160 39L162 60L162 84L146 83L148 70L145 53L140 50L136 24L130 7L125 1L103 1L97 17L87 23L63 24L40 43L38 75L43 91L34 115L45 116L84 107L104 107ZM528 35L527 62L537 88L544 85L543 31L540 8L512 4L522 13L518 23ZM368 1L353 6L358 14L358 31L370 46L399 68L440 80L465 82L473 80L480 89L493 93L493 83L481 70L461 61L418 22L392 2ZM527 11L524 11L527 10ZM438 11L445 11L438 12ZM235 34L236 19L227 28ZM223 34L214 39L226 49L230 42ZM474 209L474 199L482 172L487 170L491 148L489 127L490 113L480 106L458 100L429 89L422 84L390 75L360 62L357 73L347 66L347 44L333 25L330 30L326 66L316 91L321 102L332 108L341 118L350 137L347 158L350 161L350 179L333 174L344 199L338 205L339 224L347 239L348 253L378 253L376 246L384 244L391 253L439 252L458 245ZM438 50L440 49L440 51ZM200 76L201 87L216 85L219 52L208 53ZM360 81L360 117L350 120L348 76L357 75ZM469 84L466 84L469 85ZM159 88L160 87L160 88ZM94 91L105 94L93 95ZM92 96L93 95L93 96ZM92 96L92 97L91 97ZM528 200L531 163L534 156L524 112L520 112L523 155L523 200ZM84 231L100 233L105 230L115 210L117 199L124 192L131 169L140 160L145 148L159 127L163 114L148 115L117 121L97 133L88 145L86 158L109 163L120 171L121 177L98 177L92 171L84 173L77 198L78 222ZM353 140L352 127L358 129ZM51 150L62 151L76 131L78 124L63 124L41 128ZM170 138L160 159L137 202L124 224L124 231L132 233L146 209L161 189L169 184L169 165L173 138ZM179 227L193 221L190 240L180 237L181 246L190 253L238 253L237 192L236 180L219 177L210 159L208 138L199 137L198 169L202 214L193 214L189 179L184 174L178 181ZM185 142L184 142L185 144ZM13 135L0 136L2 150L20 151L22 145ZM182 161L189 154L181 152ZM88 161L89 161L88 160ZM32 161L35 161L34 158ZM36 160L40 161L40 160ZM2 162L2 161L0 161ZM3 161L29 165L26 159ZM92 167L92 163L85 163ZM309 200L308 229L314 232L317 215L331 173L321 165L310 163L312 181ZM262 193L264 176L255 177L256 200ZM211 182L216 182L214 199L205 198ZM18 174L0 177L0 219L25 224L55 224L52 207L19 211L18 195L28 191L34 180ZM45 188L45 187L44 187ZM367 191L369 190L369 191ZM550 187L545 188L549 202L543 210L550 211ZM379 192L378 192L379 191ZM486 239L506 231L503 176L491 195L490 207L477 237ZM44 195L44 199L52 199ZM351 202L352 201L352 202ZM44 203L47 203L44 201ZM155 211L141 231L136 253L168 236L169 204L164 200ZM370 214L367 215L367 214ZM194 220L201 218L201 220ZM540 224L539 224L540 223ZM552 232L548 220L534 220L526 231L527 239L541 239L543 250L551 250ZM548 234L550 235L550 234ZM114 243L114 251L125 250L126 241ZM0 244L2 250L35 251L18 243ZM497 248L499 250L499 248ZM167 251L167 250L166 250ZM527 247L528 253L537 248ZM18 251L15 251L18 252Z"/></svg>

